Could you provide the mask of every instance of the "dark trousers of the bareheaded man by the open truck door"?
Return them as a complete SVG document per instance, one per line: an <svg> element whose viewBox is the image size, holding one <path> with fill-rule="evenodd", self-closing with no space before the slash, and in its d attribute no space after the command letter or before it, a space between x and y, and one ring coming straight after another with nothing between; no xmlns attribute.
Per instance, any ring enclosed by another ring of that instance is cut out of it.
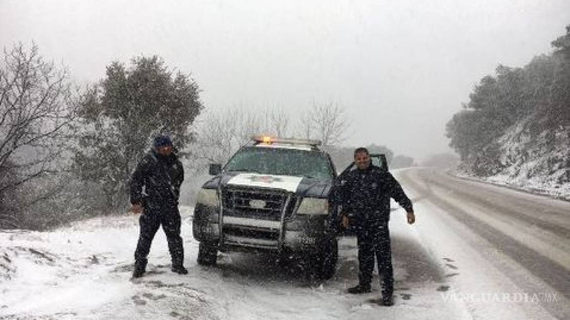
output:
<svg viewBox="0 0 570 320"><path fill-rule="evenodd" d="M394 270L392 269L392 251L390 250L390 231L388 221L372 223L356 231L358 243L359 281L368 286L372 282L374 257L378 262L381 277L382 296L392 296L394 292Z"/></svg>

